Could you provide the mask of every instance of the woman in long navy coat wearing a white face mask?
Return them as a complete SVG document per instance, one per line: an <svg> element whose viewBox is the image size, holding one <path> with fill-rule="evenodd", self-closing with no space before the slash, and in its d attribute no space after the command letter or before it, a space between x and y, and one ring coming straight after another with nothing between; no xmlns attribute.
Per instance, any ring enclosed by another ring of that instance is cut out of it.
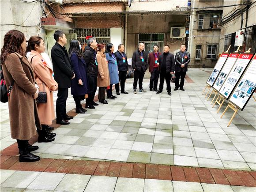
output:
<svg viewBox="0 0 256 192"><path fill-rule="evenodd" d="M80 53L81 48L80 42L75 39L70 42L68 49L72 67L75 72L75 78L71 81L71 94L75 100L76 113L86 112L86 109L83 109L81 105L81 100L84 100L85 94L88 92L86 63Z"/></svg>

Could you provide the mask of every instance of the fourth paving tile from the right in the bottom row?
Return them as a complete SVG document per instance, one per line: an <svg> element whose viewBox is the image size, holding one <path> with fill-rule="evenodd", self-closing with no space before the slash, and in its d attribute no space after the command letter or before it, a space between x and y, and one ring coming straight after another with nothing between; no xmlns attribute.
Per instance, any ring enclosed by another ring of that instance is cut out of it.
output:
<svg viewBox="0 0 256 192"><path fill-rule="evenodd" d="M144 192L173 192L172 181L145 179Z"/></svg>

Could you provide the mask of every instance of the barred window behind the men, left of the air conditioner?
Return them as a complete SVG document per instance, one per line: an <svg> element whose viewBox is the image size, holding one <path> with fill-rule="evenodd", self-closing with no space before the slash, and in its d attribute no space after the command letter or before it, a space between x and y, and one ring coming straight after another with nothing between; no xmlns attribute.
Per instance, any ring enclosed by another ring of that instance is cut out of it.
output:
<svg viewBox="0 0 256 192"><path fill-rule="evenodd" d="M163 52L164 34L139 34L138 42L144 43L147 53L154 51L154 45L158 45L159 52Z"/></svg>

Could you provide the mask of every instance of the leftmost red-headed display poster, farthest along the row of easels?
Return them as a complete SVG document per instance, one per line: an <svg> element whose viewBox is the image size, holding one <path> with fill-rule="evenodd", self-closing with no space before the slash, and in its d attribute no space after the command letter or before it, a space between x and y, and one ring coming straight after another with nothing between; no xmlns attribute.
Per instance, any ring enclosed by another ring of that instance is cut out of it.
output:
<svg viewBox="0 0 256 192"><path fill-rule="evenodd" d="M228 58L228 56L229 56L229 53L222 53L221 56L219 57L217 63L215 64L213 71L211 72L209 79L206 82L209 86L212 86L213 83L215 82L215 80L216 80L220 70L222 69L226 59Z"/></svg>

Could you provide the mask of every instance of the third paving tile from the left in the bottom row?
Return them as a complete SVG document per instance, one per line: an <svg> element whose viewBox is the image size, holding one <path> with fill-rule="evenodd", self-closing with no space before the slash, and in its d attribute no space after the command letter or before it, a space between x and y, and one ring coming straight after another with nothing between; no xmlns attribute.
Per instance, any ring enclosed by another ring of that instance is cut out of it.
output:
<svg viewBox="0 0 256 192"><path fill-rule="evenodd" d="M64 176L65 173L42 172L27 188L53 191Z"/></svg>

